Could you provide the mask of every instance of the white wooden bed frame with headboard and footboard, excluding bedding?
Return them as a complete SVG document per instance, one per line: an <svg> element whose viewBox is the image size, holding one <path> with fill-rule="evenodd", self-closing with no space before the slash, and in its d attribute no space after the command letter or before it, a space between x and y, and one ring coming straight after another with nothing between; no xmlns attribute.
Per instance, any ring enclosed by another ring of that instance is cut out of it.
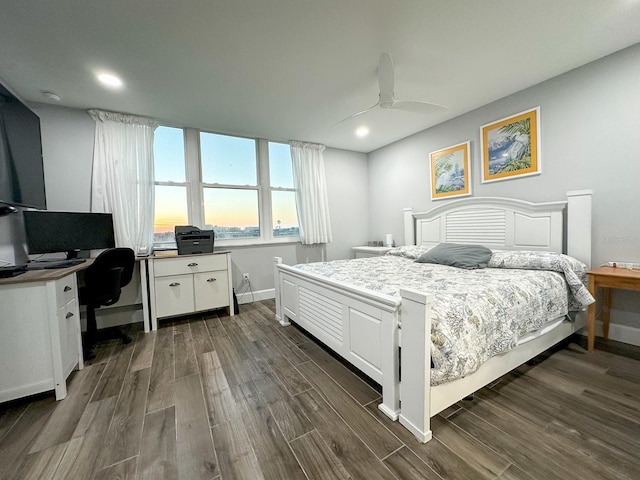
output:
<svg viewBox="0 0 640 480"><path fill-rule="evenodd" d="M441 243L480 244L504 252L565 252L590 266L591 192L563 201L530 203L506 198L465 198L428 212L404 211L406 250ZM516 255L517 256L517 255ZM363 259L368 260L368 259ZM375 259L371 259L375 260ZM387 263L392 263L386 259ZM406 264L409 265L409 264ZM507 265L509 266L509 265ZM407 267L408 268L408 267ZM407 270L402 268L402 270ZM448 267L451 268L451 267ZM489 270L489 269L487 269ZM432 321L439 293L428 287L384 289L305 270L274 259L276 319L295 322L382 386L378 408L421 442L431 438L430 418L583 328L583 310L541 318L534 331L504 352L453 377L434 370ZM426 284L425 284L426 285ZM584 303L584 302L583 302ZM433 349L433 350L432 350Z"/></svg>

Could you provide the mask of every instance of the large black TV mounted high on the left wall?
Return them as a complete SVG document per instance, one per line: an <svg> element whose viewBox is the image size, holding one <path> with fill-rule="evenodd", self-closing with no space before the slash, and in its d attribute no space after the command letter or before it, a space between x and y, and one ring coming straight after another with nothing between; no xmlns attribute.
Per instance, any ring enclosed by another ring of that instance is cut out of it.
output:
<svg viewBox="0 0 640 480"><path fill-rule="evenodd" d="M0 204L47 208L40 118L2 84Z"/></svg>

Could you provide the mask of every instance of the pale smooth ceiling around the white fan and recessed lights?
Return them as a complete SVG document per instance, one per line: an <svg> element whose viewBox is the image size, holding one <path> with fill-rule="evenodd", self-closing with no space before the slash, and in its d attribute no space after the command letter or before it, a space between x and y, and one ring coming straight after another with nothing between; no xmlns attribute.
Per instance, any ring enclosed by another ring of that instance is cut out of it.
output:
<svg viewBox="0 0 640 480"><path fill-rule="evenodd" d="M638 0L29 0L0 6L23 99L370 152L640 42ZM398 100L374 109L377 63ZM109 90L108 71L124 81ZM43 91L57 93L52 102ZM354 135L367 125L365 138Z"/></svg>

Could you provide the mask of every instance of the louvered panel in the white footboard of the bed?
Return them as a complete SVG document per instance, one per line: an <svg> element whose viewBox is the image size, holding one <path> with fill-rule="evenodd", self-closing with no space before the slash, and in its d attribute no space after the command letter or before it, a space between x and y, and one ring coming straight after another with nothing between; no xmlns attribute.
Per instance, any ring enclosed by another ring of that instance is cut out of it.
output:
<svg viewBox="0 0 640 480"><path fill-rule="evenodd" d="M303 287L299 289L299 302L298 314L302 321L313 324L342 344L344 332L340 303Z"/></svg>

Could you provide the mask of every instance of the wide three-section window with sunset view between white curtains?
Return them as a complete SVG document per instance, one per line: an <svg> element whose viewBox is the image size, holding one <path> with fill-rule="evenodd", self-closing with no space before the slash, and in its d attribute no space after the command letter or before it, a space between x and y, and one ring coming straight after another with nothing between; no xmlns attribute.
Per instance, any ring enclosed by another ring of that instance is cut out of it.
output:
<svg viewBox="0 0 640 480"><path fill-rule="evenodd" d="M156 245L189 224L223 245L298 240L289 145L163 126L154 156Z"/></svg>

